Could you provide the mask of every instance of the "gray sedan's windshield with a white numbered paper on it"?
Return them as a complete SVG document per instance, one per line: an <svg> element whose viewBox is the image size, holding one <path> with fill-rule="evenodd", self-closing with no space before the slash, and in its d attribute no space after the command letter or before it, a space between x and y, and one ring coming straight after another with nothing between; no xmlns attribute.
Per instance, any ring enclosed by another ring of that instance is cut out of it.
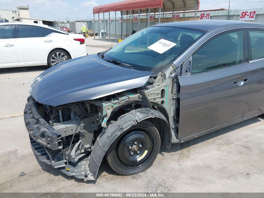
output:
<svg viewBox="0 0 264 198"><path fill-rule="evenodd" d="M129 36L106 51L102 57L156 74L204 33L195 29L150 27Z"/></svg>

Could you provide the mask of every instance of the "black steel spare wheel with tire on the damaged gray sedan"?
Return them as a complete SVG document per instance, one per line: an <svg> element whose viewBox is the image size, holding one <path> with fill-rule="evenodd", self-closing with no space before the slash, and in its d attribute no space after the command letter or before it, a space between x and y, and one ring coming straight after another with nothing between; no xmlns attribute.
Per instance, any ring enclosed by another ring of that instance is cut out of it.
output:
<svg viewBox="0 0 264 198"><path fill-rule="evenodd" d="M143 120L117 138L107 150L105 158L115 172L134 175L151 167L159 150L160 136L157 128Z"/></svg>

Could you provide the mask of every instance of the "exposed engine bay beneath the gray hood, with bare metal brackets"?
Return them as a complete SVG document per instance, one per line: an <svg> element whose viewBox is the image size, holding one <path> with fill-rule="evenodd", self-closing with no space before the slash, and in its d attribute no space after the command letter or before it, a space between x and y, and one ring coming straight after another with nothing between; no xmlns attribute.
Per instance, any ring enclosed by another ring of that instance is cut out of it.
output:
<svg viewBox="0 0 264 198"><path fill-rule="evenodd" d="M140 94L131 90L112 94L102 100L60 106L38 104L38 110L47 123L61 134L64 159L76 162L92 150L102 128L116 121L120 115L141 106Z"/></svg>

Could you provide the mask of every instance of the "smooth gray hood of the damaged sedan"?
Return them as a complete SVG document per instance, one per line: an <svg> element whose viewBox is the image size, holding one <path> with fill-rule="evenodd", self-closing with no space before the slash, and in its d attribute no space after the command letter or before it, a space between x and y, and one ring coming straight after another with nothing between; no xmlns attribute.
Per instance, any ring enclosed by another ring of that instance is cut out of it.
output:
<svg viewBox="0 0 264 198"><path fill-rule="evenodd" d="M32 82L30 92L38 103L57 106L141 87L151 74L91 54L47 69Z"/></svg>

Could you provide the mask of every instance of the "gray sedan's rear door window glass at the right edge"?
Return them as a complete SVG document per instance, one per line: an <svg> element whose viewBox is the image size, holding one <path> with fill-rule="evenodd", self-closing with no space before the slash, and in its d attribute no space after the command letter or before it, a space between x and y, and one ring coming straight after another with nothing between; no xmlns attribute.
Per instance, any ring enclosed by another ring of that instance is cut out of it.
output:
<svg viewBox="0 0 264 198"><path fill-rule="evenodd" d="M264 31L249 30L252 59L264 58Z"/></svg>

